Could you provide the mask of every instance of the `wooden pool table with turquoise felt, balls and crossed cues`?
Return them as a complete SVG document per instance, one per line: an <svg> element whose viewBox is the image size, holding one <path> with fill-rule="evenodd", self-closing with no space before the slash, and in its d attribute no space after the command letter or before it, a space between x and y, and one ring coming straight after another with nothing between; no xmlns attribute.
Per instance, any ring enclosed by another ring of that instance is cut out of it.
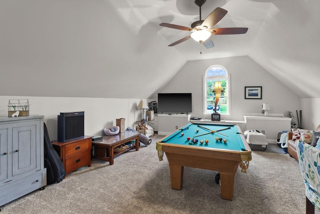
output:
<svg viewBox="0 0 320 214"><path fill-rule="evenodd" d="M171 188L181 189L184 166L214 170L221 198L228 200L233 199L237 167L246 172L251 160L251 149L235 124L188 123L156 142L156 150L159 160L165 153L169 162Z"/></svg>

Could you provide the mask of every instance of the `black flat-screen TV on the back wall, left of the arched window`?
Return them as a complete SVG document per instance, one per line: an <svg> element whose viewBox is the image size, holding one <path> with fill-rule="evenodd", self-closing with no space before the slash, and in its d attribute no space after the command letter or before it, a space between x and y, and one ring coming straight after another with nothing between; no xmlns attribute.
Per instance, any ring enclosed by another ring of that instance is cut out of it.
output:
<svg viewBox="0 0 320 214"><path fill-rule="evenodd" d="M158 93L158 113L186 114L192 112L191 93Z"/></svg>

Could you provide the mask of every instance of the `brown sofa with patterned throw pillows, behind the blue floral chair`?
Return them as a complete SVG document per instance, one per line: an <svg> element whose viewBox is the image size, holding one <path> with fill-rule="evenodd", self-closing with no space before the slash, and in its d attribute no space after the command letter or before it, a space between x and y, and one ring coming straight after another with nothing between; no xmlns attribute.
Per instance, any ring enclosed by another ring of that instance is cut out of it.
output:
<svg viewBox="0 0 320 214"><path fill-rule="evenodd" d="M291 132L287 133L287 147L289 155L294 159L298 160L295 141L302 140L307 144L315 146L319 136L320 125L316 127L315 131L299 128L292 129Z"/></svg>

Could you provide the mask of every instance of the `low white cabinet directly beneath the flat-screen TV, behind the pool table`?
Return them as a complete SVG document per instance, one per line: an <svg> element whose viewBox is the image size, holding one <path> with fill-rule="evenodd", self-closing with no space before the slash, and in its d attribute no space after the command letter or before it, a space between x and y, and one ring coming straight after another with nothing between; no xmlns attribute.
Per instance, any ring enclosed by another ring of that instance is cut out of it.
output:
<svg viewBox="0 0 320 214"><path fill-rule="evenodd" d="M158 114L158 135L168 135L190 121L191 114Z"/></svg>

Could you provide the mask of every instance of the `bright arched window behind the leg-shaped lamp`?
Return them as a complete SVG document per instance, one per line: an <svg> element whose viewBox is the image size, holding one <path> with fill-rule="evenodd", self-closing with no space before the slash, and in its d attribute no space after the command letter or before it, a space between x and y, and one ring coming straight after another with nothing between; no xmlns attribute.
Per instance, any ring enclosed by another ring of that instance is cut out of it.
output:
<svg viewBox="0 0 320 214"><path fill-rule="evenodd" d="M215 93L212 91L214 87L214 83L216 81L221 82L221 86L223 91L221 92L220 98L218 100L217 106L216 106L216 112L221 115L228 115L229 114L229 96L230 96L230 90L229 90L229 76L227 74L227 71L225 68L223 68L220 65L213 65L210 66L204 76L204 114L211 114L213 113L214 107L215 107Z"/></svg>

